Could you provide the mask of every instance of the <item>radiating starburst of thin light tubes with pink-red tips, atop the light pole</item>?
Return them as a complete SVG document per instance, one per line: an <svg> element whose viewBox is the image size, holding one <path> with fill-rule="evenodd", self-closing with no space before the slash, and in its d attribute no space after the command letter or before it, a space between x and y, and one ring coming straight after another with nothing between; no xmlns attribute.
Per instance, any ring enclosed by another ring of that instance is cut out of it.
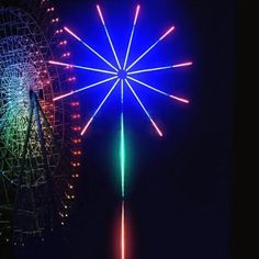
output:
<svg viewBox="0 0 259 259"><path fill-rule="evenodd" d="M81 135L83 135L87 131L87 128L89 127L89 125L91 124L91 122L93 121L94 116L97 115L97 113L101 110L102 105L104 104L104 102L106 101L106 99L110 97L110 94L112 93L112 91L115 89L115 87L119 85L119 81L121 81L121 102L122 102L122 114L123 114L123 102L124 102L124 86L125 83L127 85L128 89L131 90L132 94L135 97L135 99L137 100L137 102L139 103L139 105L142 106L143 111L145 112L145 114L147 115L147 117L149 119L149 121L151 122L153 126L155 127L156 132L158 133L159 136L162 136L161 130L158 127L158 125L155 123L155 121L151 119L150 114L148 113L147 109L144 106L143 102L140 101L139 97L137 95L137 93L135 92L135 90L133 89L133 87L131 86L131 83L128 82L128 80L132 80L136 83L138 83L139 86L143 86L145 88L148 88L153 91L156 91L160 94L167 95L171 99L174 99L177 101L180 102L184 102L184 103L189 103L189 101L187 99L183 98L179 98L177 95L173 94L169 94L167 92L164 92L155 87L151 87L148 83L145 83L136 78L134 78L134 75L137 74L144 74L144 72L151 72L151 71L159 71L159 70L165 70L165 69L169 69L169 68L178 68L178 67L185 67L185 66L190 66L192 65L191 61L189 63L182 63L182 64L177 64L177 65L172 65L172 66L160 66L160 67L155 67L155 68L144 68L144 69L138 69L135 71L130 71L130 69L132 69L137 63L139 63L145 56L147 56L147 54L149 52L151 52L157 45L158 43L162 42L167 36L169 36L173 31L174 31L174 26L169 27L164 34L161 34L161 36L150 46L148 47L140 56L138 56L130 66L127 66L127 61L128 61L128 57L130 57L130 53L132 49L132 44L133 44L133 38L134 38L134 33L135 33L135 29L136 29L136 24L137 24L137 19L138 19L138 14L139 14L139 10L140 10L140 5L137 5L136 8L136 12L135 12L135 16L134 16L134 22L133 22L133 26L132 26L132 31L131 31L131 36L130 40L127 42L127 48L125 52L125 58L120 63L117 54L115 52L112 38L110 36L110 33L106 29L106 24L101 11L100 5L97 5L97 10L99 13L99 16L101 19L102 25L104 26L104 31L106 34L106 38L108 42L112 48L112 53L113 56L115 57L116 60L116 65L117 67L114 67L110 61L108 61L106 58L104 58L103 56L101 56L97 50L94 50L92 47L90 47L85 41L82 41L78 35L76 35L71 30L69 30L68 27L65 27L65 31L67 33L69 33L74 38L76 38L77 41L79 41L80 43L82 43L87 48L89 48L93 54L95 54L99 58L101 58L104 63L106 63L112 69L113 71L109 71L109 70L104 70L102 68L90 68L90 67L83 67L83 66L77 66L77 65L69 65L71 67L75 68L80 68L83 70L89 70L89 71L97 71L97 72L102 72L102 74L112 74L115 77L112 77L110 79L105 79L103 81L99 81L97 83L90 85L88 87L78 89L76 91L69 92L69 93L65 93L60 97L55 98L55 100L59 100L66 97L69 97L74 93L87 90L89 88L99 86L101 83L108 82L110 80L113 79L117 79L116 82L113 85L113 87L111 88L111 90L109 91L109 93L105 95L104 100L101 102L101 104L99 105L99 108L97 109L97 111L94 112L94 114L92 115L92 117L89 120L89 122L87 123L87 125L85 126L83 131L81 132ZM120 48L121 49L121 48ZM64 63L57 63L57 61L53 61L52 64L54 65L60 65L60 66L66 66L67 64ZM123 68L121 67L121 64L123 64ZM125 82L125 83L124 83Z"/></svg>

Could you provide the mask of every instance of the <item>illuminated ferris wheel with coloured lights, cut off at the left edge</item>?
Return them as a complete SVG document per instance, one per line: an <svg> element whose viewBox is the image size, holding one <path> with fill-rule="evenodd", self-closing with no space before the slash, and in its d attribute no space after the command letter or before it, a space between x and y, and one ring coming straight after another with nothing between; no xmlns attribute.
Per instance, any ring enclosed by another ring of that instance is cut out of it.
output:
<svg viewBox="0 0 259 259"><path fill-rule="evenodd" d="M79 102L67 41L48 1L0 3L0 241L24 244L66 224L80 168ZM55 55L54 55L55 54Z"/></svg>

